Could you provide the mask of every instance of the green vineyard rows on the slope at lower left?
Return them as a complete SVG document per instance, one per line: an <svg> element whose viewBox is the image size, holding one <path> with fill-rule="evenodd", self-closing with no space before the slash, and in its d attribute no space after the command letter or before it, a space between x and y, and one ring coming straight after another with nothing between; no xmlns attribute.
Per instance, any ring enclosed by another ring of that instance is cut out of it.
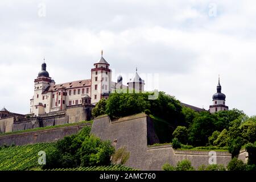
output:
<svg viewBox="0 0 256 182"><path fill-rule="evenodd" d="M54 150L55 143L36 143L26 146L5 147L0 150L0 171L28 170L39 167L39 151Z"/></svg>

